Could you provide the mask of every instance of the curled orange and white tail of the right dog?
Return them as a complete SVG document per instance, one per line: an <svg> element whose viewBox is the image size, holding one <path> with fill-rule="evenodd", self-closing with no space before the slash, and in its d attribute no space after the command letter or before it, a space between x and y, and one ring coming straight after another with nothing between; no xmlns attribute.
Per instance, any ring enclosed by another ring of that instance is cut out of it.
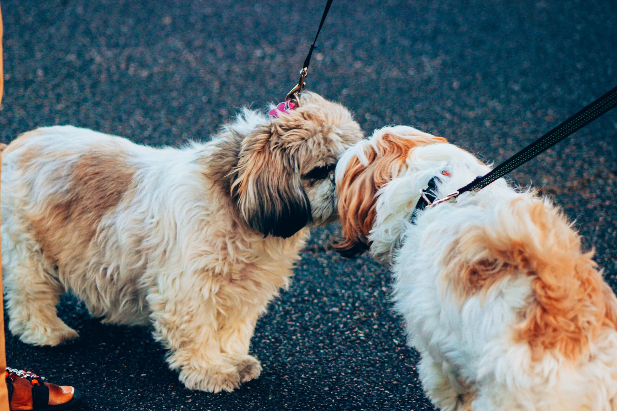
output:
<svg viewBox="0 0 617 411"><path fill-rule="evenodd" d="M555 206L523 194L463 229L447 253L446 273L463 300L505 277L531 276L534 299L516 340L529 344L534 359L552 351L575 361L617 324L617 299L593 254L581 251L579 234Z"/></svg>

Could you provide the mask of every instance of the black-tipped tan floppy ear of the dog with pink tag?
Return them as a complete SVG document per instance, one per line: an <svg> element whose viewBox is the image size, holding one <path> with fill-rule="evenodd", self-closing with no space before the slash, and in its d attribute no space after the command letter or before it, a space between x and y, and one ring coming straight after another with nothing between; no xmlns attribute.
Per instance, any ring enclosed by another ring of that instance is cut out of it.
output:
<svg viewBox="0 0 617 411"><path fill-rule="evenodd" d="M264 125L242 142L231 196L249 227L288 238L312 221L312 213L295 150L283 147L278 132Z"/></svg>

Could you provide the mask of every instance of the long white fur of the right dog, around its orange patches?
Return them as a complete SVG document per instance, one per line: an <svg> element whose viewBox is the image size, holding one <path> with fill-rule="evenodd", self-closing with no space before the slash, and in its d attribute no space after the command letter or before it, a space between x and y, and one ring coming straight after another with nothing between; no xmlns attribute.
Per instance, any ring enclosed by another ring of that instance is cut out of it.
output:
<svg viewBox="0 0 617 411"><path fill-rule="evenodd" d="M405 126L376 131L343 155L337 182L351 158L368 165L366 145L379 144L385 133L411 139L422 134ZM552 355L533 362L528 344L515 343L511 328L529 303L532 277L508 277L463 306L444 287L441 262L457 232L469 224L497 226L501 208L514 198L531 201L532 195L499 179L477 193L461 195L455 203L419 213L411 224L419 190L439 176L436 191L441 198L490 169L455 145L426 145L413 149L405 171L378 192L370 253L391 265L395 309L405 319L408 343L421 354L418 370L428 397L444 411L617 410L615 330L593 341L589 360L581 364L566 364ZM442 176L442 171L452 177ZM499 224L507 226L508 221Z"/></svg>

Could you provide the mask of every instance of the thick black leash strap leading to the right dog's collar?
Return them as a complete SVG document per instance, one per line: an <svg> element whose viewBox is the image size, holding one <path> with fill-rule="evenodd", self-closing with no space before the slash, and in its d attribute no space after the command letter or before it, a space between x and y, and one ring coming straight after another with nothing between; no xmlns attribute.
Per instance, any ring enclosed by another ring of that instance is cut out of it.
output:
<svg viewBox="0 0 617 411"><path fill-rule="evenodd" d="M581 111L568 118L568 120L559 124L557 127L544 134L544 136L532 142L512 157L508 158L508 160L503 161L503 163L499 166L492 169L490 173L474 179L474 181L470 182L470 184L467 184L465 187L459 189L458 194L483 189L500 177L510 173L513 169L523 165L540 153L550 149L553 145L557 144L561 140L570 136L577 130L583 128L599 116L615 107L617 107L617 87L587 105L587 107L584 107Z"/></svg>

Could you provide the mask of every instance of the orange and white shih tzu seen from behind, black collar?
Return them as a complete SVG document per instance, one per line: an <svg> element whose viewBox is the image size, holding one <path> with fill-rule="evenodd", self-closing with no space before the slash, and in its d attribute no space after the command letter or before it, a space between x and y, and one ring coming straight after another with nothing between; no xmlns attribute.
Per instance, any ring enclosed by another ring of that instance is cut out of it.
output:
<svg viewBox="0 0 617 411"><path fill-rule="evenodd" d="M441 137L376 131L337 165L337 248L391 264L439 409L617 410L617 299L558 208L500 179L412 216L433 177L442 198L489 170Z"/></svg>

